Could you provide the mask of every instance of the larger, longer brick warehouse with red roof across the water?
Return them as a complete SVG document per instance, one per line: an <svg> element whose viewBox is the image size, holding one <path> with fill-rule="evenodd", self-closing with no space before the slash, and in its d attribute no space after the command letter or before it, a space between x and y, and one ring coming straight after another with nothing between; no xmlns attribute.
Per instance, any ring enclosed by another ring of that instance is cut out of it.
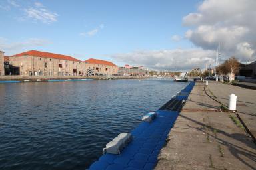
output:
<svg viewBox="0 0 256 170"><path fill-rule="evenodd" d="M21 76L84 76L85 64L71 56L27 51L9 57L9 64L19 67Z"/></svg>

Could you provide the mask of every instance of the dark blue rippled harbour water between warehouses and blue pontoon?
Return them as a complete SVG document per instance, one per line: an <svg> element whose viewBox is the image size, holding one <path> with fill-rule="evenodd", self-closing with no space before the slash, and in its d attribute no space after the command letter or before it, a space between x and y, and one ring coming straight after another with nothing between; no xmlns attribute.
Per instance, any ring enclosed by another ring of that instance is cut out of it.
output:
<svg viewBox="0 0 256 170"><path fill-rule="evenodd" d="M187 82L171 79L0 84L0 169L86 169Z"/></svg>

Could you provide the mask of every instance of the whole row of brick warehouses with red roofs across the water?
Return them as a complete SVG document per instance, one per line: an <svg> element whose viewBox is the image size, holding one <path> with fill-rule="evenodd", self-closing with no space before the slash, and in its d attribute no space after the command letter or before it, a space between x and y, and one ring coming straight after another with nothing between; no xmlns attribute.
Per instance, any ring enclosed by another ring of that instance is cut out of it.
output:
<svg viewBox="0 0 256 170"><path fill-rule="evenodd" d="M105 60L84 62L72 56L30 50L5 57L0 52L0 75L21 76L115 76L118 67Z"/></svg>

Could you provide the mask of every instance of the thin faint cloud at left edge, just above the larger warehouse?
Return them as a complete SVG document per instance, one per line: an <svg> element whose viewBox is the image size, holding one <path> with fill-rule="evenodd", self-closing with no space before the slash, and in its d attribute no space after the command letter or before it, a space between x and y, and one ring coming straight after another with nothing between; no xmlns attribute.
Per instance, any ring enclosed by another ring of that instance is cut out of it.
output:
<svg viewBox="0 0 256 170"><path fill-rule="evenodd" d="M0 50L8 55L17 54L24 49L32 49L38 46L45 46L50 42L45 39L31 38L21 42L11 42L8 39L0 37Z"/></svg>

